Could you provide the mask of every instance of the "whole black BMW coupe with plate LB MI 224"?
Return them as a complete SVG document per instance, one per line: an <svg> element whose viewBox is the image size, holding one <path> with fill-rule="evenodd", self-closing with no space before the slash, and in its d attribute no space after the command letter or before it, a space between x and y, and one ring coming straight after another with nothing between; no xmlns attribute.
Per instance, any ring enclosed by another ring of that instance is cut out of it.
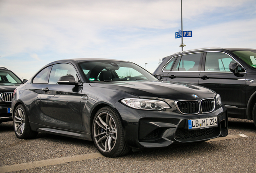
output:
<svg viewBox="0 0 256 173"><path fill-rule="evenodd" d="M227 136L227 109L205 87L160 81L121 60L69 59L47 64L12 99L14 131L93 141L106 157L133 149Z"/></svg>

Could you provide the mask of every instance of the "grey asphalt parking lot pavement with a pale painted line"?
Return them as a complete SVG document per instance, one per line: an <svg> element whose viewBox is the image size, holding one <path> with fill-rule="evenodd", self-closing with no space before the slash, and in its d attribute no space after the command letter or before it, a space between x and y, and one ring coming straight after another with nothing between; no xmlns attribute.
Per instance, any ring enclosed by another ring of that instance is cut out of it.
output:
<svg viewBox="0 0 256 173"><path fill-rule="evenodd" d="M91 141L45 133L18 139L12 122L6 122L0 124L0 173L251 173L256 172L255 140L253 121L229 118L225 138L107 158Z"/></svg>

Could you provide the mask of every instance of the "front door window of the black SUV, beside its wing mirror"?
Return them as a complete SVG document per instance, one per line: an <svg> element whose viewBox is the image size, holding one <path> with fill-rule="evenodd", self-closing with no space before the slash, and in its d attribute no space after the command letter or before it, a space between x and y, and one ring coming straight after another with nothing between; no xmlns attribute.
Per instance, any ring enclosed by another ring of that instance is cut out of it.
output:
<svg viewBox="0 0 256 173"><path fill-rule="evenodd" d="M205 58L205 71L230 72L229 64L231 62L237 63L228 54L221 52L207 52ZM238 67L238 71L245 72L241 66Z"/></svg>

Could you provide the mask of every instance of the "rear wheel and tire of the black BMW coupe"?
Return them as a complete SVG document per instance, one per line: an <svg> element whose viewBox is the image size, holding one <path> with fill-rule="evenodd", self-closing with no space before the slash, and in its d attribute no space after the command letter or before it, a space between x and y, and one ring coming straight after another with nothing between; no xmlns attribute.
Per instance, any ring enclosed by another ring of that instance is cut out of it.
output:
<svg viewBox="0 0 256 173"><path fill-rule="evenodd" d="M14 111L13 127L15 135L20 139L31 139L38 134L31 130L27 111L23 105L18 105Z"/></svg>

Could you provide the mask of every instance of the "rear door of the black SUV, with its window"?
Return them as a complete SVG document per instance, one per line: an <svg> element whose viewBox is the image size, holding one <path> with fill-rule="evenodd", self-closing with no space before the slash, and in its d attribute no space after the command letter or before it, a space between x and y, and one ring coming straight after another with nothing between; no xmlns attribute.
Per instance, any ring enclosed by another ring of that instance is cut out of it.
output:
<svg viewBox="0 0 256 173"><path fill-rule="evenodd" d="M198 84L202 53L178 56L167 74L166 80Z"/></svg>

